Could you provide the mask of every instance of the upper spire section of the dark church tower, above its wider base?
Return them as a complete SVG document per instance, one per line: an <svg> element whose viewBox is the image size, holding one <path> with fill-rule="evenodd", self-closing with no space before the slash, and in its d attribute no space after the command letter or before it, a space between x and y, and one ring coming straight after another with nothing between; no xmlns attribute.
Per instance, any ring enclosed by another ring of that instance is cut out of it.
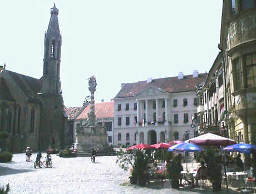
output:
<svg viewBox="0 0 256 194"><path fill-rule="evenodd" d="M45 54L41 93L61 94L60 89L61 34L58 26L58 9L51 8L51 18L45 33Z"/></svg>

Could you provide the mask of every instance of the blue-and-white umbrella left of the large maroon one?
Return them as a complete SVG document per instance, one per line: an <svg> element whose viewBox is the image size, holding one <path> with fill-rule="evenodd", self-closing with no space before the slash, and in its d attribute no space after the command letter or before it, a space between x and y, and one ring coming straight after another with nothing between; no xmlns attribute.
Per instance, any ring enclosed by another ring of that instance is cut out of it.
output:
<svg viewBox="0 0 256 194"><path fill-rule="evenodd" d="M179 143L168 148L169 152L198 152L201 150L203 148L194 143Z"/></svg>

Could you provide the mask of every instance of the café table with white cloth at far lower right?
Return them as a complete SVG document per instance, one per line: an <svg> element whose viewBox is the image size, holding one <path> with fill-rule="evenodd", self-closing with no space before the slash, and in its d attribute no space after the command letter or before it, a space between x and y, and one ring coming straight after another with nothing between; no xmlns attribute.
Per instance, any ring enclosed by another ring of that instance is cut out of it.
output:
<svg viewBox="0 0 256 194"><path fill-rule="evenodd" d="M243 187L244 186L244 175L248 177L247 173L244 172L227 172L228 185L233 187Z"/></svg>

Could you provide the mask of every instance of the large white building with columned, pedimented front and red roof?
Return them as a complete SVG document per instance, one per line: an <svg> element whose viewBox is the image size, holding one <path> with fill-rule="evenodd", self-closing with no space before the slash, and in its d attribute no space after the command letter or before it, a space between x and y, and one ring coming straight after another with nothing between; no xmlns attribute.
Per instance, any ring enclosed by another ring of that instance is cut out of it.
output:
<svg viewBox="0 0 256 194"><path fill-rule="evenodd" d="M195 86L207 73L122 84L114 98L114 146L154 144L194 137ZM186 137L185 137L186 134Z"/></svg>

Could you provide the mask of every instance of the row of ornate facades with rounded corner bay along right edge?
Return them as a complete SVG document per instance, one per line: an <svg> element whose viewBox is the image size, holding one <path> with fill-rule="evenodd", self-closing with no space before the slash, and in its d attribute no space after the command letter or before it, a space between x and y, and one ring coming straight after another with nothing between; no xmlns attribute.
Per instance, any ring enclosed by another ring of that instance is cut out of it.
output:
<svg viewBox="0 0 256 194"><path fill-rule="evenodd" d="M256 144L255 6L254 0L223 1L218 46L221 52L216 57L205 83L196 88L196 93L204 104L198 107L198 115L201 116L203 123L202 132L213 129L217 123L220 132L224 132L223 135L237 142L254 145ZM221 94L222 86L217 83L218 77L223 78L223 94ZM223 113L222 117L221 113Z"/></svg>

